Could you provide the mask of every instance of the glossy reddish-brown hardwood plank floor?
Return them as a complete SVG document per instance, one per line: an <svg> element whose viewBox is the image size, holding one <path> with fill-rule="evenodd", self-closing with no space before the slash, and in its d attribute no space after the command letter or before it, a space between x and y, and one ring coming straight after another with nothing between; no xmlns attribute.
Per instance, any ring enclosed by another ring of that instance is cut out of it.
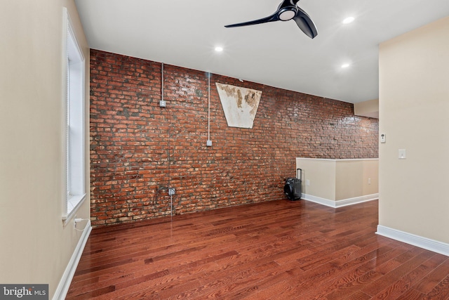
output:
<svg viewBox="0 0 449 300"><path fill-rule="evenodd" d="M95 228L67 299L449 299L449 257L376 226L279 200Z"/></svg>

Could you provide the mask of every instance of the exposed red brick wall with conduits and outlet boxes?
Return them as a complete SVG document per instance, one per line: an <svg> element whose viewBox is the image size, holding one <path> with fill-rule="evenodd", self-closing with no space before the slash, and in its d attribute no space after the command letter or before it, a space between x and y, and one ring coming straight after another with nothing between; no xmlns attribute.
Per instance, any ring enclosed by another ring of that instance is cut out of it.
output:
<svg viewBox="0 0 449 300"><path fill-rule="evenodd" d="M377 157L378 121L350 103L91 50L93 226L283 199L295 157ZM253 129L228 127L215 82L262 91Z"/></svg>

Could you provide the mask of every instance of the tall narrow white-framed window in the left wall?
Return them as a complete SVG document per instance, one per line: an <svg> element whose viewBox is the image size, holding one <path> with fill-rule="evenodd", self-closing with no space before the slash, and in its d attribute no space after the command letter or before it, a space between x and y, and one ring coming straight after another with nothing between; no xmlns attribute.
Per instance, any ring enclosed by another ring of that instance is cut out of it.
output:
<svg viewBox="0 0 449 300"><path fill-rule="evenodd" d="M65 10L66 50L64 51L65 79L65 159L66 195L62 205L62 219L71 218L86 197L84 155L84 77L85 60L76 41L72 23Z"/></svg>

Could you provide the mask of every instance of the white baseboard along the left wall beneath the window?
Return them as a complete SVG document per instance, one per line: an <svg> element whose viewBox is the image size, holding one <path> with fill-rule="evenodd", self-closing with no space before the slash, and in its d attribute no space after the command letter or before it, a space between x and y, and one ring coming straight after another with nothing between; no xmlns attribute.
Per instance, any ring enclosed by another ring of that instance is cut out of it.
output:
<svg viewBox="0 0 449 300"><path fill-rule="evenodd" d="M67 264L67 268L65 268L64 274L62 274L62 278L59 282L58 287L56 288L55 295L53 296L53 300L63 300L69 292L70 284L72 283L73 276L76 271L76 267L78 266L79 260L81 259L81 254L83 254L83 249L86 246L86 242L88 240L89 235L91 234L92 226L91 220L88 220L86 227L83 230L81 237L79 238L78 244L76 244L76 248L70 258L69 263Z"/></svg>

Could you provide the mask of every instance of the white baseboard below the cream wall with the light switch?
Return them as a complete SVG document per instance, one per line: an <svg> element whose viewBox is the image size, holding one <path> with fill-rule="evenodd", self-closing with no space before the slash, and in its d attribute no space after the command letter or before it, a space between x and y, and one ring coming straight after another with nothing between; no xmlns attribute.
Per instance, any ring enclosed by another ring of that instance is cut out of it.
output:
<svg viewBox="0 0 449 300"><path fill-rule="evenodd" d="M393 240L398 240L399 242L413 244L413 246L420 247L422 249L427 249L432 252L443 254L445 256L449 256L449 244L446 244L444 242L431 240L427 237L413 235L412 233L406 233L401 230L396 230L382 225L377 225L376 233L384 237L389 237Z"/></svg>

